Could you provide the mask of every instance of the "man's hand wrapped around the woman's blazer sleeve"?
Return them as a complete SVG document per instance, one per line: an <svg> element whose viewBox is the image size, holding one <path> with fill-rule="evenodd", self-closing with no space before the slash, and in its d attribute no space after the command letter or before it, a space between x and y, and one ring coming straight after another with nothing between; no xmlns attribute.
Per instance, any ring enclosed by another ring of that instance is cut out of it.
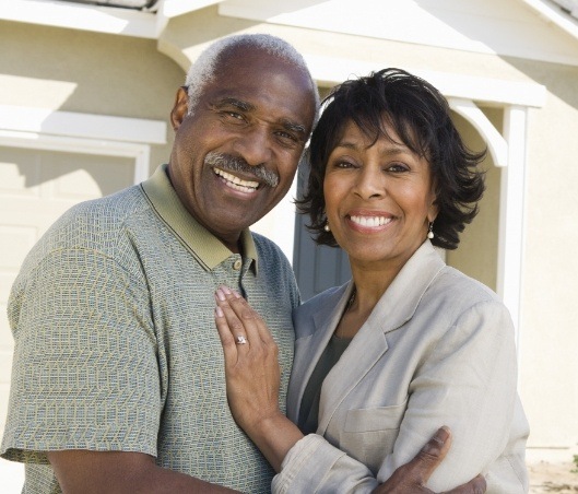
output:
<svg viewBox="0 0 578 494"><path fill-rule="evenodd" d="M448 427L440 427L427 442L417 456L398 468L393 474L374 490L374 494L408 494L433 493L425 484L434 470L441 463L451 445L451 434ZM467 484L460 485L447 494L482 494L486 490L486 482L477 475Z"/></svg>

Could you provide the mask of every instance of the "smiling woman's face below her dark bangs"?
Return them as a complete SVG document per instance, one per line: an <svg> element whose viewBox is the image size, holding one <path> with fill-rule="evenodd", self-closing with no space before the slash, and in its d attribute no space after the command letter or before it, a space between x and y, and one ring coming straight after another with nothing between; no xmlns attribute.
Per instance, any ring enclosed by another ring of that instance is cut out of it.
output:
<svg viewBox="0 0 578 494"><path fill-rule="evenodd" d="M352 262L401 267L425 240L437 214L430 167L404 144L385 137L371 141L353 122L345 126L327 163L326 212Z"/></svg>

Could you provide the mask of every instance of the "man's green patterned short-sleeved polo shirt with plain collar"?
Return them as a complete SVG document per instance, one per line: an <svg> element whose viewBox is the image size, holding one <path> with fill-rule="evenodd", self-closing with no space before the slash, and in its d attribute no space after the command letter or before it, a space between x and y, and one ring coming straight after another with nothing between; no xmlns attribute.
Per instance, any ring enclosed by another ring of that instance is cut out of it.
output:
<svg viewBox="0 0 578 494"><path fill-rule="evenodd" d="M160 167L72 208L27 256L9 301L15 350L3 458L26 492L60 492L42 451L140 451L241 492L272 469L235 424L214 325L215 289L236 287L279 345L280 405L293 360L291 266L243 233L231 252L186 211Z"/></svg>

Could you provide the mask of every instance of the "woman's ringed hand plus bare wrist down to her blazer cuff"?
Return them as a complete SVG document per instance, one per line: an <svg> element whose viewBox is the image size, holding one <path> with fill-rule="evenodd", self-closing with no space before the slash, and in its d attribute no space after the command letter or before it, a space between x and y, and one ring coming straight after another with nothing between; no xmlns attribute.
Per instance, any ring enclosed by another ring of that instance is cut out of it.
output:
<svg viewBox="0 0 578 494"><path fill-rule="evenodd" d="M276 343L261 317L237 292L221 286L215 299L231 412L279 472L283 458L303 434L279 410Z"/></svg>

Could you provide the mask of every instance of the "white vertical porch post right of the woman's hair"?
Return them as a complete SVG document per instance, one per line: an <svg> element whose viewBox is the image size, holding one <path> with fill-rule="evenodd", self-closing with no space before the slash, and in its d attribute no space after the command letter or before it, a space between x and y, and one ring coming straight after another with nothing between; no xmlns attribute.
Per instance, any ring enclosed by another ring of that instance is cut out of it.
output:
<svg viewBox="0 0 578 494"><path fill-rule="evenodd" d="M511 314L517 342L522 286L527 119L527 108L505 108L504 134L508 142L508 166L502 168L497 293Z"/></svg>

